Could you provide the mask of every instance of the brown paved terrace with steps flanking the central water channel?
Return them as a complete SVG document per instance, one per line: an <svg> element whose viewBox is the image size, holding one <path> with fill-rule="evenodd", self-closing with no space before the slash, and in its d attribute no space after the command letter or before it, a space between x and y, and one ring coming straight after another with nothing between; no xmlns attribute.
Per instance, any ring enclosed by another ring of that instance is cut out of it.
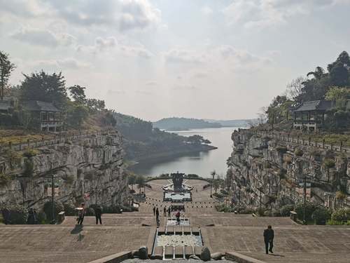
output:
<svg viewBox="0 0 350 263"><path fill-rule="evenodd" d="M167 183L151 182L152 189L146 189L148 198L138 213L103 215L102 226L95 225L94 217L85 217L82 229L75 228L74 217L56 226L1 225L0 262L89 262L141 245L151 248L155 233L152 208L153 204L164 207L160 189ZM210 189L202 191L206 182L190 180L187 184L197 187L197 192L193 191L193 202L186 203L186 217L193 226L201 227L204 245L212 252L235 251L265 262L349 262L350 227L308 227L286 217L218 213L209 198ZM211 224L214 226L209 227ZM264 253L262 231L267 224L275 230L274 255Z"/></svg>

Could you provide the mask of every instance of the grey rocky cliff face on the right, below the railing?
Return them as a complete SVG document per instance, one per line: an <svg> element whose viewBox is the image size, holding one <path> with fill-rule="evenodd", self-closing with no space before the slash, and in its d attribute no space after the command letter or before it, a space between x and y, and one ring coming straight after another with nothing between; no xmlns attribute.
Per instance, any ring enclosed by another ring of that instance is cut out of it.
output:
<svg viewBox="0 0 350 263"><path fill-rule="evenodd" d="M303 198L328 207L350 205L350 156L299 142L286 142L250 130L232 133L228 184L241 207L274 209ZM309 191L311 190L311 197ZM261 196L261 197L260 197Z"/></svg>

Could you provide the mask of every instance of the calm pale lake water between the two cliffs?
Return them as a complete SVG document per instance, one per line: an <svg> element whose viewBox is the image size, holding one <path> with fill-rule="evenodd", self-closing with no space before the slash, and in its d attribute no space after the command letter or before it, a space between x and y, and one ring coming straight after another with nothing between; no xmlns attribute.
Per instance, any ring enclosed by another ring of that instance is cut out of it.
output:
<svg viewBox="0 0 350 263"><path fill-rule="evenodd" d="M202 135L211 141L211 145L218 147L211 151L202 151L195 154L187 154L160 162L139 163L130 167L134 173L139 175L156 176L162 173L195 173L201 177L211 177L210 173L216 170L218 175L226 175L226 160L232 152L231 134L238 128L205 128L197 130L175 131L179 135Z"/></svg>

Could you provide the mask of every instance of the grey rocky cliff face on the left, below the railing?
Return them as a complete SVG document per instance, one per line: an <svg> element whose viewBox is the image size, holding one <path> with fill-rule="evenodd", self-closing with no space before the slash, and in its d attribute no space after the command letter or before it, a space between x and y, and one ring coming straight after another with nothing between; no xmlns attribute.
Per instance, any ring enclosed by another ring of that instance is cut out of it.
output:
<svg viewBox="0 0 350 263"><path fill-rule="evenodd" d="M40 208L50 201L52 174L55 199L87 205L120 204L127 200L124 151L118 131L66 140L27 149L7 150L0 155L0 203L19 203Z"/></svg>

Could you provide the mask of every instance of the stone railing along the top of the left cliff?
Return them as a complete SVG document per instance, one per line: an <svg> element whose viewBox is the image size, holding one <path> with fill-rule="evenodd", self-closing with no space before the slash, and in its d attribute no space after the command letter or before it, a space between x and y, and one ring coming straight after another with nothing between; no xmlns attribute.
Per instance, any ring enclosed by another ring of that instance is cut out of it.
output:
<svg viewBox="0 0 350 263"><path fill-rule="evenodd" d="M61 144L64 142L78 142L87 138L94 138L99 135L105 135L111 132L113 129L99 130L97 132L89 132L89 131L79 131L79 132L71 132L71 133L57 133L52 135L50 139L45 139L42 137L41 140L26 140L24 142L13 144L12 142L8 142L8 144L0 144L1 149L13 149L15 151L22 151L25 149L35 149L38 147Z"/></svg>

